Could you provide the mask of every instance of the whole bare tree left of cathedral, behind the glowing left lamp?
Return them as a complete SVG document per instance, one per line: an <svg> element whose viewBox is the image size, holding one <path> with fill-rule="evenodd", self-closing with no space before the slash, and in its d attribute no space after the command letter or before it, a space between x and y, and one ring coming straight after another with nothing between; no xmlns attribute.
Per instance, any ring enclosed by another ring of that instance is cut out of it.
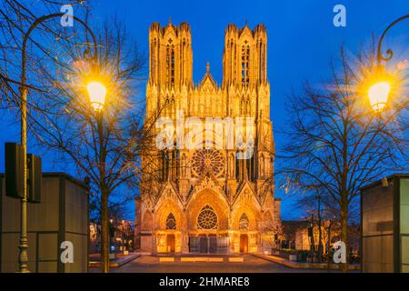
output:
<svg viewBox="0 0 409 291"><path fill-rule="evenodd" d="M137 95L145 55L128 38L125 26L115 20L97 31L96 64L81 58L77 47L66 45L67 55L74 60L71 66L60 67L58 74L41 66L41 84L48 88L43 94L46 103L37 101L35 106L43 110L33 111L29 117L38 143L72 161L79 175L89 177L97 189L102 266L109 272L109 199L126 189L136 192L141 173L139 153L148 136L144 104ZM87 83L95 78L107 88L101 110L90 105L86 91Z"/></svg>

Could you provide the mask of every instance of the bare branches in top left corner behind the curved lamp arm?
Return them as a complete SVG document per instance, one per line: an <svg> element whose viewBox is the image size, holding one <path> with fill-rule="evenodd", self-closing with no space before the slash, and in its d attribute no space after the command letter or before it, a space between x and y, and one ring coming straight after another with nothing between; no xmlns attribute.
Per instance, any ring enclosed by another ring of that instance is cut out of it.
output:
<svg viewBox="0 0 409 291"><path fill-rule="evenodd" d="M18 1L2 0L0 9L0 103L3 108L15 109L19 106L18 88L22 75L23 38L30 25L44 15L58 14L63 5L72 5L75 16L86 20L88 5L84 1ZM39 23L30 34L26 47L25 75L29 90L37 93L46 91L36 83L38 65L51 67L65 66L65 50L62 45L84 48L88 43L88 33L84 25L74 27L61 25L60 17L53 17ZM28 105L30 106L30 105ZM38 108L37 108L38 109Z"/></svg>

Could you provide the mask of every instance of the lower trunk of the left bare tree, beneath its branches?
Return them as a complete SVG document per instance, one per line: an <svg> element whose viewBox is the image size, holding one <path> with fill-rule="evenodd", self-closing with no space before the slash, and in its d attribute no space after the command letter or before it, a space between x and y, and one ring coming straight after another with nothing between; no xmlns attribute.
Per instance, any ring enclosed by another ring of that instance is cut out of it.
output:
<svg viewBox="0 0 409 291"><path fill-rule="evenodd" d="M105 190L101 191L101 267L103 273L109 273L109 224L108 224L108 195Z"/></svg>

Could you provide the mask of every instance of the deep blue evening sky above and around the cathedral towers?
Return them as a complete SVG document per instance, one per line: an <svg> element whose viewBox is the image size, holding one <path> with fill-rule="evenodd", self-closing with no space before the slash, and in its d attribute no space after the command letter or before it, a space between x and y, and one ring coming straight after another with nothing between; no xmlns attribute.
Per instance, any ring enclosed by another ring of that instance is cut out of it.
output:
<svg viewBox="0 0 409 291"><path fill-rule="evenodd" d="M334 5L346 7L347 26L334 27ZM286 125L286 95L292 88L298 90L305 80L319 84L328 76L328 65L339 52L339 46L354 54L359 45L368 44L372 35L380 35L384 28L399 16L409 13L408 0L288 0L288 1L145 1L96 0L92 16L95 22L116 14L125 22L128 33L141 49L148 52L148 28L156 21L166 25L169 17L176 25L188 22L192 29L194 52L194 79L198 82L210 62L216 82L222 81L222 55L224 29L234 23L250 27L263 23L268 33L268 78L272 85L271 115L274 129L284 130ZM388 35L386 46L398 53L395 60L408 57L409 21L394 28ZM404 45L405 44L405 45ZM144 94L141 89L140 94ZM4 170L4 142L18 140L18 127L9 125L0 115L0 171ZM277 149L284 144L283 136L275 134ZM50 157L48 157L49 159ZM53 168L44 157L44 171ZM282 216L295 218L293 199L283 197ZM130 205L133 208L133 205Z"/></svg>

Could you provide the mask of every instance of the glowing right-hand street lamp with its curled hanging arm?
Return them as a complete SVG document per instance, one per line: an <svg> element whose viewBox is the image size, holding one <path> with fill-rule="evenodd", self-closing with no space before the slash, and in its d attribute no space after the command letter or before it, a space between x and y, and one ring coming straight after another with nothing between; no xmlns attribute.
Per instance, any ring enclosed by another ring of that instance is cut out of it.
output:
<svg viewBox="0 0 409 291"><path fill-rule="evenodd" d="M405 19L409 19L409 15L404 15L396 19L391 25L386 27L386 29L384 30L384 33L382 34L377 47L376 61L378 70L383 71L384 66L382 65L382 62L383 61L389 62L394 57L394 52L392 51L392 49L388 49L386 51L387 56L383 55L382 45L384 42L384 37L389 32L389 30L392 27L394 27L394 25L397 25L398 23L404 21ZM374 111L380 112L384 109L385 105L387 104L391 89L392 89L391 83L387 79L376 80L376 82L369 87L368 89L369 102Z"/></svg>

